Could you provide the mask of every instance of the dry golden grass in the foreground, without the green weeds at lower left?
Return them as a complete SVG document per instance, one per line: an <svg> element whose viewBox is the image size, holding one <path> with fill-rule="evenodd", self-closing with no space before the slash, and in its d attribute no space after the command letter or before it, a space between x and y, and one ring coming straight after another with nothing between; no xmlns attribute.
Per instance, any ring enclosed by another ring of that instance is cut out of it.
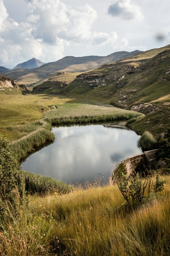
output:
<svg viewBox="0 0 170 256"><path fill-rule="evenodd" d="M57 255L168 255L170 177L163 178L167 185L159 199L133 210L116 185L33 197L30 210L54 220Z"/></svg>

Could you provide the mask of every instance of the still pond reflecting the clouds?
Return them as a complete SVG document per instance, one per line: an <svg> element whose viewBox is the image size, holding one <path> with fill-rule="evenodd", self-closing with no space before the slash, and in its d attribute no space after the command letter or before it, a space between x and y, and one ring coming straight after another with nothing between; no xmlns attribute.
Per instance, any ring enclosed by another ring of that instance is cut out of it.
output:
<svg viewBox="0 0 170 256"><path fill-rule="evenodd" d="M46 144L23 163L23 170L50 176L66 183L108 181L123 159L140 154L132 130L103 124L53 127L55 141Z"/></svg>

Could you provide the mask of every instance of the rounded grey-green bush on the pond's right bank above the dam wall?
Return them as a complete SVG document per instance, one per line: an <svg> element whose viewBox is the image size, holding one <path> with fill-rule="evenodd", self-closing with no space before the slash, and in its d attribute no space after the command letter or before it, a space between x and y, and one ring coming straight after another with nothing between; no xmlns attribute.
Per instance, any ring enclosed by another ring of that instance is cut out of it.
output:
<svg viewBox="0 0 170 256"><path fill-rule="evenodd" d="M150 132L145 131L141 135L140 139L137 140L137 146L144 150L152 150L156 148L157 141Z"/></svg>

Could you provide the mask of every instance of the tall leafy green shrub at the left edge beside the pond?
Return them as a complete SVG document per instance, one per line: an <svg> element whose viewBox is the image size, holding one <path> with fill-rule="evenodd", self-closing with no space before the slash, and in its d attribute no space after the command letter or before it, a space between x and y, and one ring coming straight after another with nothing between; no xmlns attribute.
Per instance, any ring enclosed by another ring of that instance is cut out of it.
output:
<svg viewBox="0 0 170 256"><path fill-rule="evenodd" d="M18 163L12 156L8 141L0 137L0 199L13 207L23 196L23 182L19 175Z"/></svg>

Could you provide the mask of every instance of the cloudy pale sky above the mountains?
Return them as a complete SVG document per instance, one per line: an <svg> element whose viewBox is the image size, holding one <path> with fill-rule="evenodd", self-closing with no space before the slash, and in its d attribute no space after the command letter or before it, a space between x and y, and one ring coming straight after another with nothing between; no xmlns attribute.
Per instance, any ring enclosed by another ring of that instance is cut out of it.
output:
<svg viewBox="0 0 170 256"><path fill-rule="evenodd" d="M170 0L0 0L0 65L170 44Z"/></svg>

